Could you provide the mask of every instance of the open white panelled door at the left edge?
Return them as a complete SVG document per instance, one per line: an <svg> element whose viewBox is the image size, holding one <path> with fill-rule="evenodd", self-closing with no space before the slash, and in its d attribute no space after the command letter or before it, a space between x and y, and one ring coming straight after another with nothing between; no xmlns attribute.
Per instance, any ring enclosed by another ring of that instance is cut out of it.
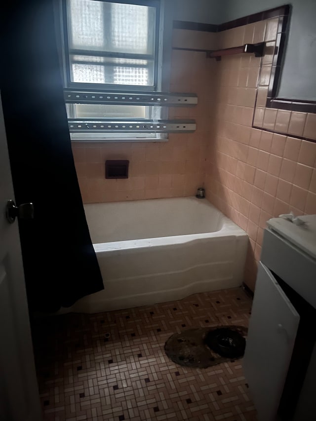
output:
<svg viewBox="0 0 316 421"><path fill-rule="evenodd" d="M40 421L18 223L5 218L14 200L0 98L0 420Z"/></svg>

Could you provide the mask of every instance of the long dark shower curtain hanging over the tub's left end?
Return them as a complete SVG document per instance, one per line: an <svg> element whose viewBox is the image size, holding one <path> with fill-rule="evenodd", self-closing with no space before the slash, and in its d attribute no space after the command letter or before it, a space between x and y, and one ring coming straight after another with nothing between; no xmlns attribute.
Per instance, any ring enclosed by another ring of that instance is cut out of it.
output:
<svg viewBox="0 0 316 421"><path fill-rule="evenodd" d="M1 10L0 89L30 312L54 312L103 289L71 149L53 0ZM8 198L9 199L9 198Z"/></svg>

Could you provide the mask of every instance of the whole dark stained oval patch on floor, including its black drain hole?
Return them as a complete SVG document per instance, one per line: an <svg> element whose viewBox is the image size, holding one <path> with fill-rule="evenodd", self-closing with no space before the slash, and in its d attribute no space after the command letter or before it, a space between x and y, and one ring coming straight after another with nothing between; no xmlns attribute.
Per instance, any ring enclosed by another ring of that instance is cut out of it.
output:
<svg viewBox="0 0 316 421"><path fill-rule="evenodd" d="M188 329L170 336L164 350L179 365L206 368L242 357L246 334L243 326Z"/></svg>

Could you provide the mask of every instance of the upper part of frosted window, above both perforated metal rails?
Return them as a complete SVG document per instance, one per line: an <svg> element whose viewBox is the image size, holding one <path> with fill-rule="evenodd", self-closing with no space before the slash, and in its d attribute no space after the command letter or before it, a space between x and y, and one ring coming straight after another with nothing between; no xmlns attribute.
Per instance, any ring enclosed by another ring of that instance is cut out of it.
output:
<svg viewBox="0 0 316 421"><path fill-rule="evenodd" d="M96 0L66 4L70 84L157 86L156 7Z"/></svg>

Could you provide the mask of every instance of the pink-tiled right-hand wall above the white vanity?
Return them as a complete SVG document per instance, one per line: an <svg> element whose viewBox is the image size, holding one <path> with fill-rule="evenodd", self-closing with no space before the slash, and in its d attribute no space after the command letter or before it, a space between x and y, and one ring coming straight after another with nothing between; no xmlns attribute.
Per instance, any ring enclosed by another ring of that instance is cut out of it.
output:
<svg viewBox="0 0 316 421"><path fill-rule="evenodd" d="M219 33L219 48L265 40L268 49L262 59L243 54L216 62L210 113L206 196L249 234L245 282L251 289L266 221L289 211L316 213L316 143L295 137L316 138L315 115L264 108L277 25L274 18ZM256 100L255 125L270 132L251 127Z"/></svg>

